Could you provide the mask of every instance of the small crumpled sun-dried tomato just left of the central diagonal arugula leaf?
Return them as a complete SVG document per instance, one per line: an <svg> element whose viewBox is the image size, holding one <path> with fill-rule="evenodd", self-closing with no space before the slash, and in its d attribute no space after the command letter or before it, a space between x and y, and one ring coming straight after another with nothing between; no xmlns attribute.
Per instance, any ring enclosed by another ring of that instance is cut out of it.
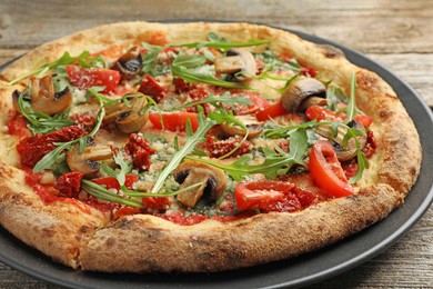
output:
<svg viewBox="0 0 433 289"><path fill-rule="evenodd" d="M143 136L139 133L131 133L124 149L131 156L132 166L135 169L149 170L149 156L154 153L155 150L149 146L149 142L143 138Z"/></svg>

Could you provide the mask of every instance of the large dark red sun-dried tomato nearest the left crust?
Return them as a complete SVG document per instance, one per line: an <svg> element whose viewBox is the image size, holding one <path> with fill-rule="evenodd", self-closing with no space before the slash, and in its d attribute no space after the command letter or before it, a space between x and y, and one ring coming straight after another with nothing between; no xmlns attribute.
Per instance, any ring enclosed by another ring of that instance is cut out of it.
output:
<svg viewBox="0 0 433 289"><path fill-rule="evenodd" d="M24 138L17 144L20 162L23 167L33 168L43 156L56 149L54 142L67 142L84 134L84 130L78 126L62 128L47 134L36 134Z"/></svg>

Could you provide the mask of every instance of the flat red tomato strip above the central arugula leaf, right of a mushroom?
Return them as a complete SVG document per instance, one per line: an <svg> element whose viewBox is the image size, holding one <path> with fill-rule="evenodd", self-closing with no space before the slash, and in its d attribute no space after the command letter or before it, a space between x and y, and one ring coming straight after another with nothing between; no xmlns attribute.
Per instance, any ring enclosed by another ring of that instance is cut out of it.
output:
<svg viewBox="0 0 433 289"><path fill-rule="evenodd" d="M199 128L199 117L195 112L150 113L149 120L154 128L164 128L170 131L185 131L188 121L191 122L192 131L195 131Z"/></svg>

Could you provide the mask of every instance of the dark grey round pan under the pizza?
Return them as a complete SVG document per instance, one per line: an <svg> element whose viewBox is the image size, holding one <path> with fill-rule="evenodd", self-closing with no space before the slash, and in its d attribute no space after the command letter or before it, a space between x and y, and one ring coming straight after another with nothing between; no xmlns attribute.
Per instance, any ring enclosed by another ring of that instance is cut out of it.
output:
<svg viewBox="0 0 433 289"><path fill-rule="evenodd" d="M312 42L335 46L343 50L351 62L375 71L400 96L417 130L420 132L433 131L433 116L430 108L412 88L386 68L332 41L298 31L288 31ZM10 63L3 64L1 69ZM23 245L4 229L0 229L0 261L32 277L68 288L286 288L311 285L350 270L387 249L429 209L433 200L433 178L431 178L433 138L429 133L420 133L420 137L423 146L421 173L403 206L381 222L356 235L296 258L220 273L108 275L82 272L54 263L50 258Z"/></svg>

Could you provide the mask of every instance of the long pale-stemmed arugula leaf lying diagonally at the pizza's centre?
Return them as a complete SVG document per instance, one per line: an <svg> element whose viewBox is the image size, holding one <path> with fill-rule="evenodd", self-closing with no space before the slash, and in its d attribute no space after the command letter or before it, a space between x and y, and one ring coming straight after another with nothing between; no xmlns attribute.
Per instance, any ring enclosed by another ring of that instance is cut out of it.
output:
<svg viewBox="0 0 433 289"><path fill-rule="evenodd" d="M161 190L161 188L162 188L165 179L169 177L169 175L175 168L178 168L179 163L183 160L183 158L188 153L190 153L191 151L194 150L195 146L199 142L204 140L208 130L210 130L214 124L215 124L214 120L209 119L209 118L204 119L203 118L203 113L199 113L199 128L197 129L194 134L192 134L190 138L188 138L188 140L187 140L185 144L183 146L183 148L181 148L180 150L178 150L174 153L174 156L171 159L171 161L161 171L160 176L157 179L155 185L152 188L152 191L151 191L152 193L158 193Z"/></svg>

